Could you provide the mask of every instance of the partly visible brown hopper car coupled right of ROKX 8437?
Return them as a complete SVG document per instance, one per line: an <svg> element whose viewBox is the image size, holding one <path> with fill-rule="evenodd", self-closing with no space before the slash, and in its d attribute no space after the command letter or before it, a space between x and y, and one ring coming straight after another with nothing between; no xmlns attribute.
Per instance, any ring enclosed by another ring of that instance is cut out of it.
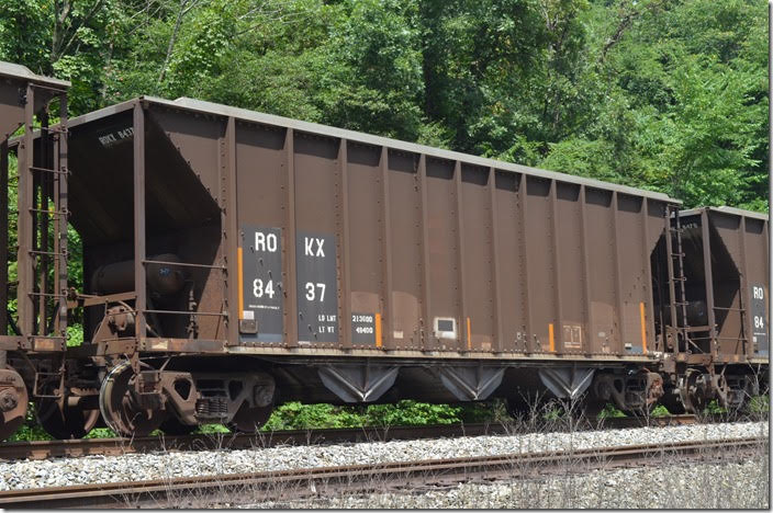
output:
<svg viewBox="0 0 773 513"><path fill-rule="evenodd" d="M672 411L698 411L712 398L738 406L766 386L769 230L766 215L730 207L671 218L653 277L657 331L665 334L661 372L669 374L662 401Z"/></svg>

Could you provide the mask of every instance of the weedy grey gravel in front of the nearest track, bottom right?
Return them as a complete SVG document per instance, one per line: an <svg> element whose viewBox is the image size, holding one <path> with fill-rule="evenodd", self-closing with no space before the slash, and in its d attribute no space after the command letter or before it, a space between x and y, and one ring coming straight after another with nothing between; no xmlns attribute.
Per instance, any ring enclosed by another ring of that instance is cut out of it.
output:
<svg viewBox="0 0 773 513"><path fill-rule="evenodd" d="M299 500L229 508L325 509L769 509L766 457L743 463L594 470L540 480Z"/></svg>

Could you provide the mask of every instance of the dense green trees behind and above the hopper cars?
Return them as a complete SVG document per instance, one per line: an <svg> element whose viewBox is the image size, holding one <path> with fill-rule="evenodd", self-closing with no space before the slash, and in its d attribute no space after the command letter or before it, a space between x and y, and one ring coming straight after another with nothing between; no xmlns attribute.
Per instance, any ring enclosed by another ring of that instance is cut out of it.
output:
<svg viewBox="0 0 773 513"><path fill-rule="evenodd" d="M75 114L181 95L764 210L751 0L14 0Z"/></svg>

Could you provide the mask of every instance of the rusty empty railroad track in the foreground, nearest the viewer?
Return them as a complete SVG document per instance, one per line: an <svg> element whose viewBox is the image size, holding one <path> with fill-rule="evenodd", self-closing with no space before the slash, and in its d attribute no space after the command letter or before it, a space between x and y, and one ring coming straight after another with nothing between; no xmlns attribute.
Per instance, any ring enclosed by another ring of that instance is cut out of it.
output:
<svg viewBox="0 0 773 513"><path fill-rule="evenodd" d="M201 508L335 497L400 488L536 477L686 460L738 460L766 452L768 437L643 444L572 452L525 453L421 461L320 467L255 474L228 474L139 482L24 489L0 492L0 506L49 508ZM421 488L419 488L421 489ZM209 501L209 502L206 502Z"/></svg>

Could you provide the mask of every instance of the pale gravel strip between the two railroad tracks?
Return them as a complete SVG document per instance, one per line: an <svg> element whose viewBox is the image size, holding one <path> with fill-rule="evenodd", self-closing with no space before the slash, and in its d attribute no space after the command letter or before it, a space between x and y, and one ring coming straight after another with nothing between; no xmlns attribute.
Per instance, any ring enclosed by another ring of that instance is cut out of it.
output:
<svg viewBox="0 0 773 513"><path fill-rule="evenodd" d="M768 436L768 423L22 460L0 463L0 490L749 436Z"/></svg>

